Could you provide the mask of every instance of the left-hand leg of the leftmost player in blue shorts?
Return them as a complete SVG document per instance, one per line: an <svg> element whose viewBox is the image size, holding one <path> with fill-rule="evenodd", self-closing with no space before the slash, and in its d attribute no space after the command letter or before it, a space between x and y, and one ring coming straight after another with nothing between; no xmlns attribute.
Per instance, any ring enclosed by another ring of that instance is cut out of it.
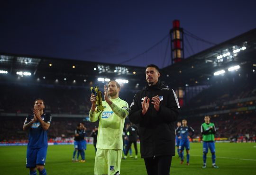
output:
<svg viewBox="0 0 256 175"><path fill-rule="evenodd" d="M27 148L26 167L29 168L29 175L37 175L37 149Z"/></svg>

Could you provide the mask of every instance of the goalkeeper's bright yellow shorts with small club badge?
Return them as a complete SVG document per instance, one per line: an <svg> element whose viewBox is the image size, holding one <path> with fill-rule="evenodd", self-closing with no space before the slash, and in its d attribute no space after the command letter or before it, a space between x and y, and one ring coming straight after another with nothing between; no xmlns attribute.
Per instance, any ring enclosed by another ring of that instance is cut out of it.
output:
<svg viewBox="0 0 256 175"><path fill-rule="evenodd" d="M119 175L121 159L122 150L97 149L94 175Z"/></svg>

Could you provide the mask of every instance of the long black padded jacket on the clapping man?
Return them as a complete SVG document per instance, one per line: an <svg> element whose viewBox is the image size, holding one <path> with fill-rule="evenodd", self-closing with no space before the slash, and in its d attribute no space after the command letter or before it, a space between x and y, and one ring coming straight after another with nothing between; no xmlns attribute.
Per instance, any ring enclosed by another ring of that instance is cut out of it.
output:
<svg viewBox="0 0 256 175"><path fill-rule="evenodd" d="M153 96L160 97L160 110L157 112L152 102ZM142 111L144 97L150 99L145 115ZM129 120L139 124L141 157L175 155L175 121L179 115L178 99L173 91L159 80L154 86L146 86L134 96L130 106Z"/></svg>

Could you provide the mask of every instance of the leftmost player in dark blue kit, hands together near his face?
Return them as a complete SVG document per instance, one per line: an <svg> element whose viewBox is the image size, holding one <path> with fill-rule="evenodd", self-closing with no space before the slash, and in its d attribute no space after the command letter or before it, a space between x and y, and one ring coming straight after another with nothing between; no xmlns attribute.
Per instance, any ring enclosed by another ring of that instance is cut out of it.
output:
<svg viewBox="0 0 256 175"><path fill-rule="evenodd" d="M23 131L28 131L26 166L30 170L29 175L37 175L37 170L40 175L46 175L47 133L52 117L44 113L44 109L44 101L37 99L33 114L27 116L23 125Z"/></svg>

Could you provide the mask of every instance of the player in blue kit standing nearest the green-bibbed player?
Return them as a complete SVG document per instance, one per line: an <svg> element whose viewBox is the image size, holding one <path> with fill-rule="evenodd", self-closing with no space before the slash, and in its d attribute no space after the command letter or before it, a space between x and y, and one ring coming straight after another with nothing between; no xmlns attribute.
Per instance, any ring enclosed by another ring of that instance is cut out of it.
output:
<svg viewBox="0 0 256 175"><path fill-rule="evenodd" d="M186 152L187 152L187 165L189 165L189 149L190 149L190 143L189 143L189 139L192 138L193 134L194 134L194 130L192 127L188 127L187 126L187 120L183 119L182 120L182 126L180 126L177 130L177 132L180 132L180 157L181 157L181 164L183 164L184 162L184 147L186 148ZM189 136L189 132L191 132L191 136Z"/></svg>

